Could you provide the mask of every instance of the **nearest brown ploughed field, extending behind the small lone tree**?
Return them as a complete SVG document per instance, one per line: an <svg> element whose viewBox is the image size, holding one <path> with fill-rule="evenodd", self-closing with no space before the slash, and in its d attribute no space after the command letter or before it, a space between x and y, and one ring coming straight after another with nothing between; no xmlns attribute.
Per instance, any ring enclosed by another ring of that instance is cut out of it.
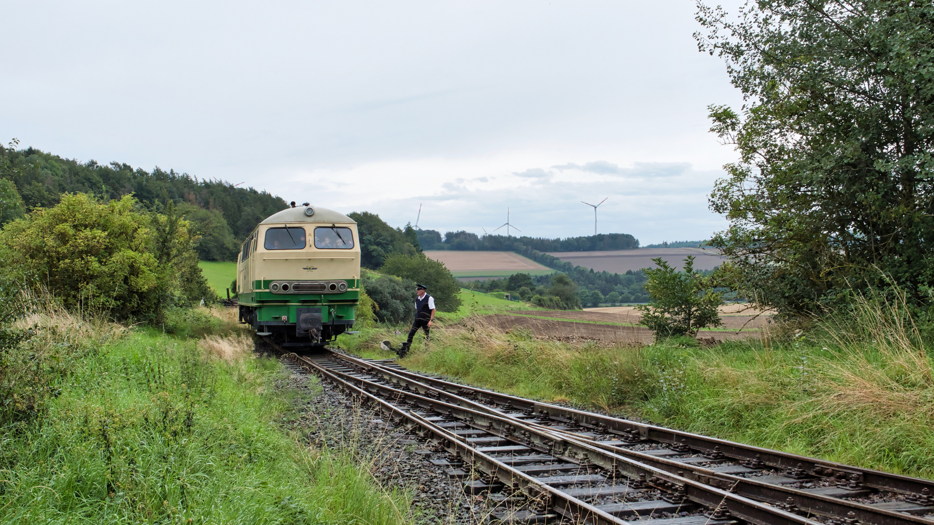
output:
<svg viewBox="0 0 934 525"><path fill-rule="evenodd" d="M755 337L769 322L770 315L746 305L723 305L720 319L724 326L702 330L698 337L710 341ZM644 326L636 326L640 313L631 306L588 308L587 310L521 310L485 316L500 330L527 329L540 337L594 339L612 343L648 344L654 339Z"/></svg>

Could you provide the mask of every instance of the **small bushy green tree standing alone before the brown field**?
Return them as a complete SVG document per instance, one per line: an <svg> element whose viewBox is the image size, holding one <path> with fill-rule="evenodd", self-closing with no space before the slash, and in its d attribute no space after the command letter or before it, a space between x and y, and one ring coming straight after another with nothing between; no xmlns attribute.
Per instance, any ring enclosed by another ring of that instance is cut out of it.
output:
<svg viewBox="0 0 934 525"><path fill-rule="evenodd" d="M644 269L648 277L645 290L652 302L636 306L642 312L639 324L655 332L656 337L694 336L701 328L723 324L716 309L723 304L723 297L714 291L711 277L694 270L694 256L687 256L683 272L660 257L652 261L658 268Z"/></svg>

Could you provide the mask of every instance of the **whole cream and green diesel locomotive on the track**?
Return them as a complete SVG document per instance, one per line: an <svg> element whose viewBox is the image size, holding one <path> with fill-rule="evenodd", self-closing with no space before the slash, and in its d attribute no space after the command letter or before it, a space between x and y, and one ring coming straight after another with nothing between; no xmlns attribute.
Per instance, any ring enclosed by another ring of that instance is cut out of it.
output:
<svg viewBox="0 0 934 525"><path fill-rule="evenodd" d="M347 332L360 302L357 223L307 204L263 220L236 265L240 320L288 347Z"/></svg>

